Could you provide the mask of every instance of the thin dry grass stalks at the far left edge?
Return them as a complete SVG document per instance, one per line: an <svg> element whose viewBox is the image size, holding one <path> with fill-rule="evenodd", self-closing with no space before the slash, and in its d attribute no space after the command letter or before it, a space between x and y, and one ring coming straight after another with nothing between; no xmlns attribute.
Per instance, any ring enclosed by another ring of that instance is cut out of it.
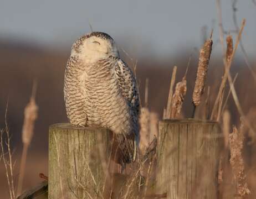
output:
<svg viewBox="0 0 256 199"><path fill-rule="evenodd" d="M9 197L10 199L15 199L16 193L14 191L14 180L13 180L13 177L14 177L13 170L14 170L15 163L13 163L13 159L12 159L11 136L9 133L8 123L7 123L7 110L8 110L8 103L6 106L6 113L5 113L6 127L4 129L0 129L0 152L1 152L1 158L3 159L4 169L6 171L6 179L7 179L8 188L9 188ZM4 133L6 133L6 140L3 140ZM7 151L4 150L4 143L7 147Z"/></svg>

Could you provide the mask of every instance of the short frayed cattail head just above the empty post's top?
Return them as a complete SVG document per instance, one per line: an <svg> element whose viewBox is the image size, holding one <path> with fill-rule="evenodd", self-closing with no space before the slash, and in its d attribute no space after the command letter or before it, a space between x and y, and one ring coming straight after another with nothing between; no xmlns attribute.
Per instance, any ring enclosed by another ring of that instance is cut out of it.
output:
<svg viewBox="0 0 256 199"><path fill-rule="evenodd" d="M183 77L181 82L178 82L175 88L175 93L172 97L171 118L178 118L181 114L182 103L187 92L187 81Z"/></svg>

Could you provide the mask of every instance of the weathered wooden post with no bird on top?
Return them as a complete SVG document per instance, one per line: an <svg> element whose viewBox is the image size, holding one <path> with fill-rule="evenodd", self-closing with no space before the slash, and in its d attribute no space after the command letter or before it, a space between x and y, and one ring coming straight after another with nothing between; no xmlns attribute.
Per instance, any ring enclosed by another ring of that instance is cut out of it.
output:
<svg viewBox="0 0 256 199"><path fill-rule="evenodd" d="M157 192L169 199L217 199L222 149L218 123L165 120L159 125Z"/></svg>

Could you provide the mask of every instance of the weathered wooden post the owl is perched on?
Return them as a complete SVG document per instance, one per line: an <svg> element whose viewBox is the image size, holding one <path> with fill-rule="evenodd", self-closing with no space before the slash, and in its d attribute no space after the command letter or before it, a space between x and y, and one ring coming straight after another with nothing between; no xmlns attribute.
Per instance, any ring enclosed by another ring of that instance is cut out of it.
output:
<svg viewBox="0 0 256 199"><path fill-rule="evenodd" d="M111 132L68 123L49 128L50 199L103 198Z"/></svg>

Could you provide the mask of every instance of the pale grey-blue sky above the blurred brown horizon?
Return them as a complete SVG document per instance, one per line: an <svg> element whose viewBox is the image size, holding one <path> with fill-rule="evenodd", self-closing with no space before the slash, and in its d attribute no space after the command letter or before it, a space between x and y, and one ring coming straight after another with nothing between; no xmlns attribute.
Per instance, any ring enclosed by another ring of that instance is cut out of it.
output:
<svg viewBox="0 0 256 199"><path fill-rule="evenodd" d="M85 33L106 32L120 48L133 55L169 55L202 44L201 29L214 29L218 39L214 0L0 0L0 39L70 49ZM237 0L238 22L247 19L243 43L255 56L256 6L253 0ZM233 0L222 0L223 26L234 29Z"/></svg>

